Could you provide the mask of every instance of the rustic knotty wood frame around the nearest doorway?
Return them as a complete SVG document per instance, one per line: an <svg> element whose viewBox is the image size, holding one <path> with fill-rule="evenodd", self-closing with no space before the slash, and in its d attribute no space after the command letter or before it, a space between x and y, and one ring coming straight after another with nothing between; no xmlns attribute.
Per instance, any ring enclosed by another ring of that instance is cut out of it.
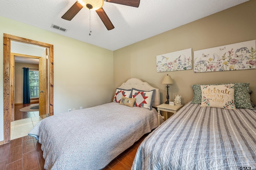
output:
<svg viewBox="0 0 256 170"><path fill-rule="evenodd" d="M48 90L49 90L49 104L48 104L48 111L49 116L53 115L53 45L42 43L40 41L34 41L31 39L26 39L22 37L17 37L14 35L6 34L4 33L4 144L10 142L10 111L12 111L12 108L14 106L11 106L11 94L13 89L12 86L14 84L11 84L11 79L14 77L11 77L10 75L10 55L11 55L11 41L18 41L21 43L27 43L27 44L34 44L41 47L46 47L49 49L49 77L48 77Z"/></svg>

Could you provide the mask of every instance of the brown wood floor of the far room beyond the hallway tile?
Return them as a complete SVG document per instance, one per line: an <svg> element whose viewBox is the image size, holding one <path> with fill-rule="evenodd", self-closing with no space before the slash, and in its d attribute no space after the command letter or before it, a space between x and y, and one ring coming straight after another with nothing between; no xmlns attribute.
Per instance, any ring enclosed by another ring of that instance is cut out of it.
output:
<svg viewBox="0 0 256 170"><path fill-rule="evenodd" d="M23 107L27 107L35 104L38 104L38 103L14 105L14 120L20 120L20 119L39 116L39 111L20 111L20 109Z"/></svg>

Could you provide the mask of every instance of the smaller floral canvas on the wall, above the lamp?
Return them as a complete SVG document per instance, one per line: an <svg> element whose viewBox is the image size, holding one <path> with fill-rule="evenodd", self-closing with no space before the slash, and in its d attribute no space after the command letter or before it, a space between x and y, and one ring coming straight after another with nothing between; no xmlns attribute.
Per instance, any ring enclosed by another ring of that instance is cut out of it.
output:
<svg viewBox="0 0 256 170"><path fill-rule="evenodd" d="M184 49L156 56L156 72L192 69L192 49Z"/></svg>

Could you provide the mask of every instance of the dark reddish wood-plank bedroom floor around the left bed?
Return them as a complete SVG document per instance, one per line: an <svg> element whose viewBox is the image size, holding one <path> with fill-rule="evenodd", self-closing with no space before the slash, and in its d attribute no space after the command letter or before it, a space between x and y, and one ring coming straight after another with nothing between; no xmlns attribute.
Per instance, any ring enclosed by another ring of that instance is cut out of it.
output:
<svg viewBox="0 0 256 170"><path fill-rule="evenodd" d="M147 135L112 160L104 170L130 170L136 151ZM44 170L41 144L34 137L25 136L1 145L0 170Z"/></svg>

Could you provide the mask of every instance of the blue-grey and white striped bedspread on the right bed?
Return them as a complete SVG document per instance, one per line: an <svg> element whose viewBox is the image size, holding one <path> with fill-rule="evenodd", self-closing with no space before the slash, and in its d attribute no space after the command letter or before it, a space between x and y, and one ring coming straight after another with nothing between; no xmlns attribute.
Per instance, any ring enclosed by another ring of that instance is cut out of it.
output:
<svg viewBox="0 0 256 170"><path fill-rule="evenodd" d="M186 104L137 150L132 170L256 169L256 111Z"/></svg>

